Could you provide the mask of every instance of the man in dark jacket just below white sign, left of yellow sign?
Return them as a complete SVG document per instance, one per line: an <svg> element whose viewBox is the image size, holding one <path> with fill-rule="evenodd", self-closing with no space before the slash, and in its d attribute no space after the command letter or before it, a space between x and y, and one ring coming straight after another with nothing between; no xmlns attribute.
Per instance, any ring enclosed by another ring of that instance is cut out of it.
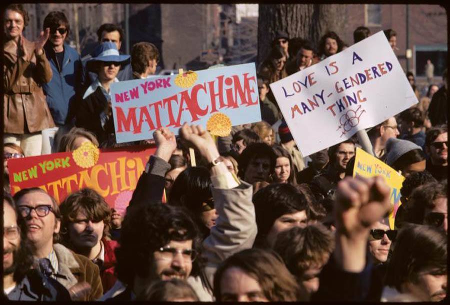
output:
<svg viewBox="0 0 450 305"><path fill-rule="evenodd" d="M345 169L354 156L354 149L351 138L328 149L328 165L311 182L311 190L318 200L331 196L337 183L345 177Z"/></svg>

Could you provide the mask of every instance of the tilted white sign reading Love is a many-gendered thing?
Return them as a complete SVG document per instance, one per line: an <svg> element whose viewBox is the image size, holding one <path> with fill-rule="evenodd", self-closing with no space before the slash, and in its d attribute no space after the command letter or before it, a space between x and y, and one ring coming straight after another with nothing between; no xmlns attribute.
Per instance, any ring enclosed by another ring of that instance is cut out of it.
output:
<svg viewBox="0 0 450 305"><path fill-rule="evenodd" d="M303 156L418 102L382 31L270 88Z"/></svg>

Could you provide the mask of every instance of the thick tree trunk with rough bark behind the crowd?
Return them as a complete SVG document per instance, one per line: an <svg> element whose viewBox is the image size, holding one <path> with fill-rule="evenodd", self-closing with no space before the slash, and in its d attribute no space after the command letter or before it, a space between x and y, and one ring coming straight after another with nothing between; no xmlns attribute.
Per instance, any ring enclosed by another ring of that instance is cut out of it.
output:
<svg viewBox="0 0 450 305"><path fill-rule="evenodd" d="M339 4L259 4L258 63L269 53L277 30L286 32L289 38L308 39L317 46L326 31L339 34L344 26L344 12L345 5Z"/></svg>

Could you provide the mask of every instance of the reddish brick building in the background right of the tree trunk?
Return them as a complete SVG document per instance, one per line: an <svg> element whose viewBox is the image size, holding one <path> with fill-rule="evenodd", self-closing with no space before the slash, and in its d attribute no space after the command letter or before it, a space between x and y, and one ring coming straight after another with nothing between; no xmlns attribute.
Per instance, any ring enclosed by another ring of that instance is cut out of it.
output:
<svg viewBox="0 0 450 305"><path fill-rule="evenodd" d="M434 75L440 76L447 66L447 15L435 4L345 4L347 23L336 30L349 45L353 43L353 30L367 26L372 33L392 28L397 32L398 60L406 71L424 75L426 59L434 64ZM406 9L408 8L408 22ZM408 23L408 31L406 31ZM408 45L406 45L406 39ZM406 49L412 56L406 58ZM408 61L408 63L406 63Z"/></svg>

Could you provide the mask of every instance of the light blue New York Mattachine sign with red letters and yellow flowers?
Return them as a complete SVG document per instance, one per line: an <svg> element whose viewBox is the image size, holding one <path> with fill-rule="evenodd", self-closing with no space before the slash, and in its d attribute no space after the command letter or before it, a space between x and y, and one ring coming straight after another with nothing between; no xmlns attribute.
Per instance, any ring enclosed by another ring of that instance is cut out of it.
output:
<svg viewBox="0 0 450 305"><path fill-rule="evenodd" d="M149 139L159 127L177 134L184 122L206 128L211 117L232 126L261 120L254 63L121 81L110 92L117 143Z"/></svg>

